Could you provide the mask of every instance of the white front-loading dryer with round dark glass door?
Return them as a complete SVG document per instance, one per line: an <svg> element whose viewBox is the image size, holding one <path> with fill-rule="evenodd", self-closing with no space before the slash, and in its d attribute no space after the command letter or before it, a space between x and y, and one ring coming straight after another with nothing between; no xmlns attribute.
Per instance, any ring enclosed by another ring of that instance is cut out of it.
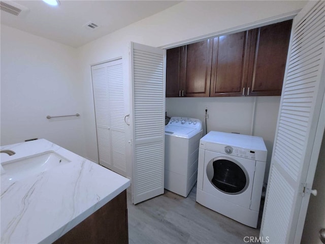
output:
<svg viewBox="0 0 325 244"><path fill-rule="evenodd" d="M200 140L197 202L256 228L266 158L262 137L209 132Z"/></svg>

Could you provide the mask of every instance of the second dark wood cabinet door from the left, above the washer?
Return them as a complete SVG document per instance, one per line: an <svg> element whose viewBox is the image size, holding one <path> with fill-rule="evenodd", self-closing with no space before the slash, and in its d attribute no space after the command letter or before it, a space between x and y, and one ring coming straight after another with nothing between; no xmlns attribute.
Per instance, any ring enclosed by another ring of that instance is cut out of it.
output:
<svg viewBox="0 0 325 244"><path fill-rule="evenodd" d="M186 45L184 49L184 97L209 97L212 39Z"/></svg>

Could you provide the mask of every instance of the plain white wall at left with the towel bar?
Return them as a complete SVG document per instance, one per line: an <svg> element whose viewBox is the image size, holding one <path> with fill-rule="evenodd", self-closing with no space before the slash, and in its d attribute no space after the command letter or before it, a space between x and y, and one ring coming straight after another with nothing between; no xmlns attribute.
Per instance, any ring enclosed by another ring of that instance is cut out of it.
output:
<svg viewBox="0 0 325 244"><path fill-rule="evenodd" d="M1 145L45 138L86 156L77 68L77 49L1 25Z"/></svg>

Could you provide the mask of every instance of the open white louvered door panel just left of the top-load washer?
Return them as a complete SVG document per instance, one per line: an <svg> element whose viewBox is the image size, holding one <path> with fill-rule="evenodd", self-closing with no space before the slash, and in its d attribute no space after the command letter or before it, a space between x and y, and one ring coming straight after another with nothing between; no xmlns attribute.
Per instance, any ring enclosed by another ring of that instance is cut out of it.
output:
<svg viewBox="0 0 325 244"><path fill-rule="evenodd" d="M164 194L165 52L130 45L134 204Z"/></svg>

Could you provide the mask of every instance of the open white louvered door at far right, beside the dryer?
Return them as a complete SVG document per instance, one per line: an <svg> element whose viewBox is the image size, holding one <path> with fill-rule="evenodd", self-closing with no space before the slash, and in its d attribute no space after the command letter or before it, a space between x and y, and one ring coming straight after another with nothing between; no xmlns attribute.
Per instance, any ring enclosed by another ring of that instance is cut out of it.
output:
<svg viewBox="0 0 325 244"><path fill-rule="evenodd" d="M306 216L308 202L302 202L310 196L304 185L312 184L307 175L317 159L311 152L319 154L316 130L323 127L324 55L325 2L312 1L295 17L291 34L261 226L269 243L300 243L299 216Z"/></svg>

